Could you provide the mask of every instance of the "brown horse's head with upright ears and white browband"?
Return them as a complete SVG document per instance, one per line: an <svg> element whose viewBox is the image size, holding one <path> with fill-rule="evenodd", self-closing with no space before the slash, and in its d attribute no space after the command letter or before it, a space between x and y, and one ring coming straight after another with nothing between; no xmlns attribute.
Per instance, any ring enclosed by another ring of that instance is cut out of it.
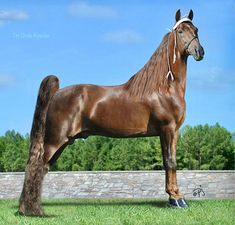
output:
<svg viewBox="0 0 235 225"><path fill-rule="evenodd" d="M181 18L180 10L178 10L175 14L175 20L173 32L175 32L179 51L186 56L192 55L197 61L202 60L204 49L199 42L198 29L192 23L193 11L190 10L187 17Z"/></svg>

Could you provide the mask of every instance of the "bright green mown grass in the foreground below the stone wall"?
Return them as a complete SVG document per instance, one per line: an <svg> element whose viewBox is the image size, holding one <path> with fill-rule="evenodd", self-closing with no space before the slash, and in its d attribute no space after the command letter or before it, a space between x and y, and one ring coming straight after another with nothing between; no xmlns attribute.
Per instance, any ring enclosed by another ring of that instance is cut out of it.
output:
<svg viewBox="0 0 235 225"><path fill-rule="evenodd" d="M213 225L235 224L235 200L189 201L188 209L157 200L44 200L45 217L19 216L17 200L0 200L0 224Z"/></svg>

